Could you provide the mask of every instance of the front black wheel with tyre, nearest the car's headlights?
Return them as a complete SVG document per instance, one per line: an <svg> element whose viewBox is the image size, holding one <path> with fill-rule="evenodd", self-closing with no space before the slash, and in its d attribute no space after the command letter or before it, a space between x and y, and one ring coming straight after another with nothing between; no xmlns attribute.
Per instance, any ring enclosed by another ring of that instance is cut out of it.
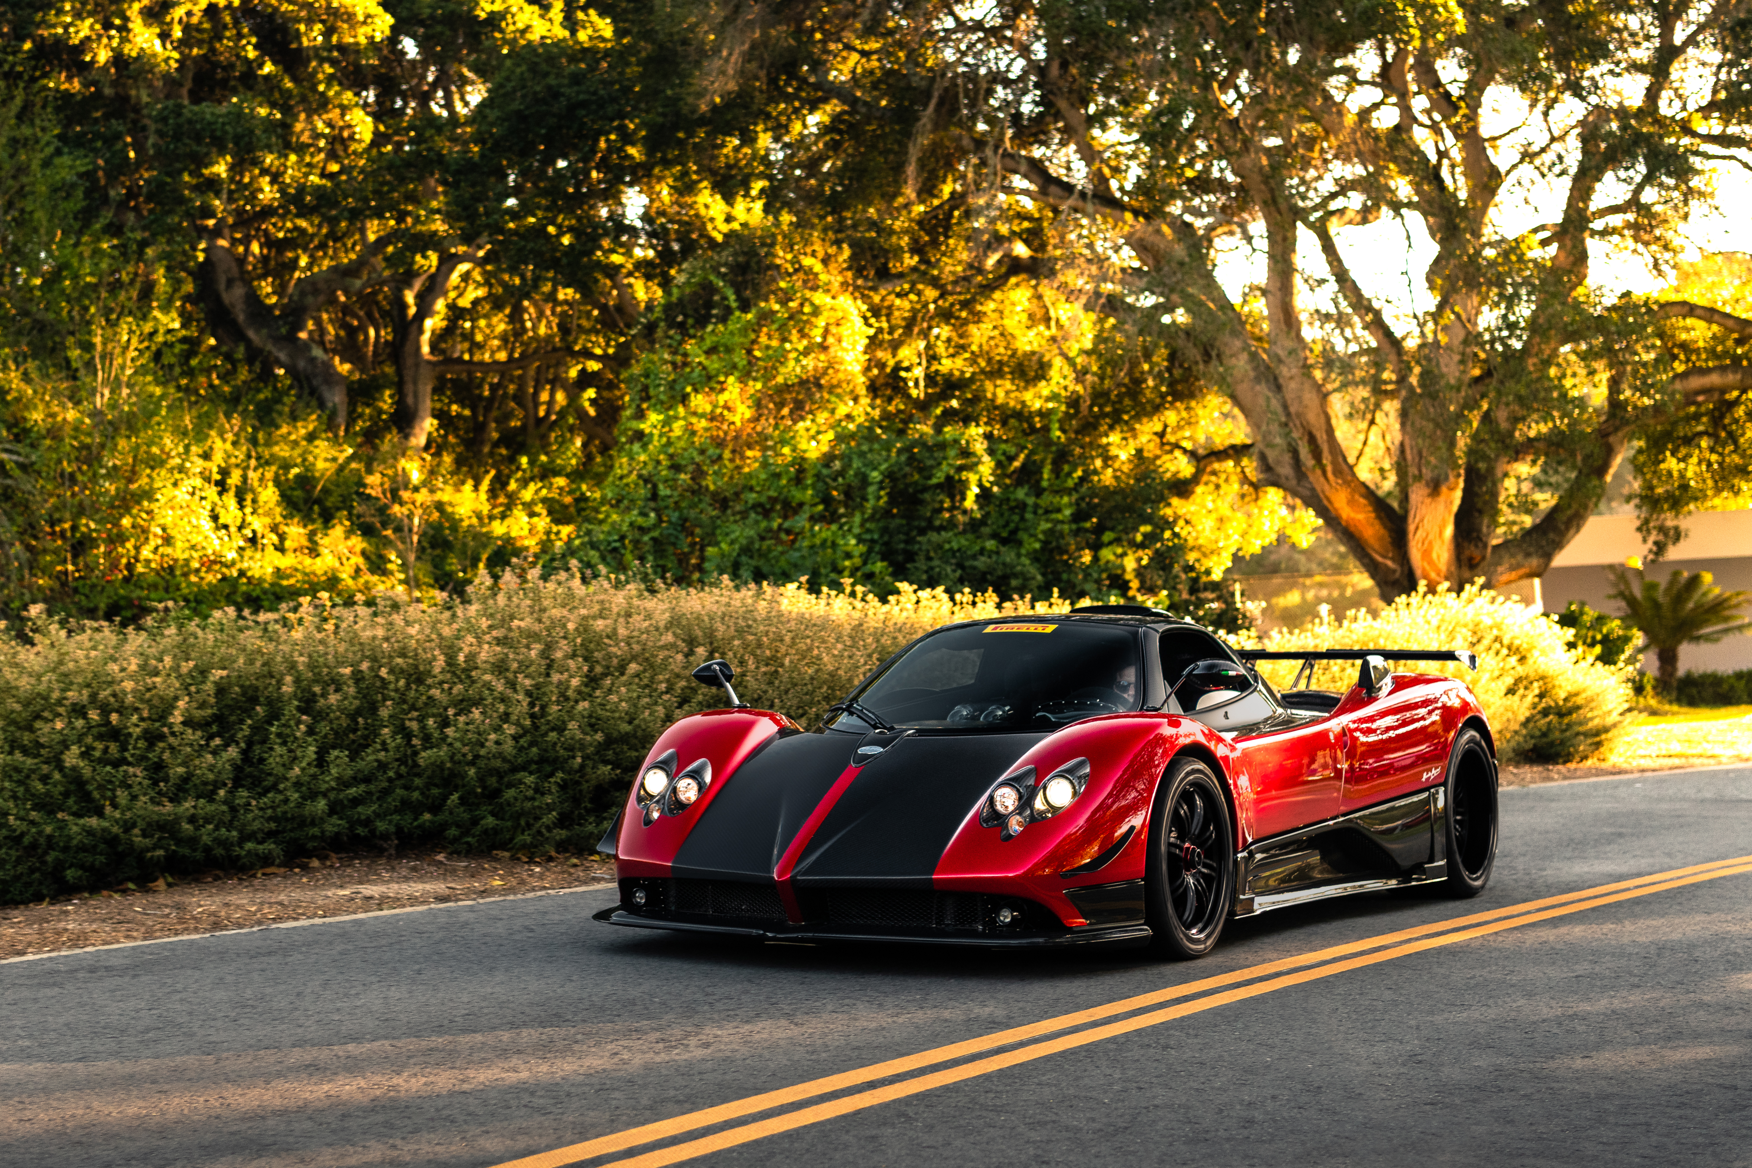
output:
<svg viewBox="0 0 1752 1168"><path fill-rule="evenodd" d="M1235 902L1235 828L1211 767L1177 758L1149 814L1146 914L1151 947L1174 958L1211 953Z"/></svg>

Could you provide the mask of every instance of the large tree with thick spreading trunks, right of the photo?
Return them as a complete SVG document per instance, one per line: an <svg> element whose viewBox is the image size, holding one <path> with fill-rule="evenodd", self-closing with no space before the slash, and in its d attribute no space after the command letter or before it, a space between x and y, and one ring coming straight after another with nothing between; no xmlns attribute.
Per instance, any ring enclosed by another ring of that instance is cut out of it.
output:
<svg viewBox="0 0 1752 1168"><path fill-rule="evenodd" d="M1661 343L1752 320L1589 285L1591 249L1670 259L1710 168L1752 161L1743 0L727 11L725 74L818 93L795 154L855 142L837 165L885 151L897 175L936 163L964 198L1079 219L1104 310L1232 396L1258 482L1326 520L1384 597L1544 573L1638 427L1752 392L1738 355ZM1426 306L1370 287L1347 235L1368 224L1428 236ZM1237 250L1260 268L1240 291Z"/></svg>

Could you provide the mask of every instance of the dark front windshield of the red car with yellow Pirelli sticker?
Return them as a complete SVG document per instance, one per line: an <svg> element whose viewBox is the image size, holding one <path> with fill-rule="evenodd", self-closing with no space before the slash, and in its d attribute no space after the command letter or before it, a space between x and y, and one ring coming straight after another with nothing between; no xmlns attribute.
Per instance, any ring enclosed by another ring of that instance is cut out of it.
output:
<svg viewBox="0 0 1752 1168"><path fill-rule="evenodd" d="M936 632L853 697L883 721L920 730L1046 730L1139 707L1132 629L1009 622ZM869 720L841 711L839 730Z"/></svg>

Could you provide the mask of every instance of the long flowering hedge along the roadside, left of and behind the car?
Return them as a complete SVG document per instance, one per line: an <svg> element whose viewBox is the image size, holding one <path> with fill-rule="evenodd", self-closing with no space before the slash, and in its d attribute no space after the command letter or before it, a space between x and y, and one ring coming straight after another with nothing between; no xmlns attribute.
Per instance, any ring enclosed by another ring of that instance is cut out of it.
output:
<svg viewBox="0 0 1752 1168"><path fill-rule="evenodd" d="M657 734L722 704L699 662L813 725L920 632L1016 608L571 569L431 608L39 616L0 639L0 902L361 842L587 849Z"/></svg>

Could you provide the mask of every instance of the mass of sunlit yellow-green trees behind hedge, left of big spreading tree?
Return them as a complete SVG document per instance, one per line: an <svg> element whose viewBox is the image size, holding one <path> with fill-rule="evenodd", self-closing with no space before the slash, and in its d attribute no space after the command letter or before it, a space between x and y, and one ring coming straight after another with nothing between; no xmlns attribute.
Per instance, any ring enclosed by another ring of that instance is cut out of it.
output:
<svg viewBox="0 0 1752 1168"><path fill-rule="evenodd" d="M533 553L1239 623L1211 581L1314 520L1104 312L1074 224L860 166L808 86L725 89L703 19L0 14L0 616L433 597Z"/></svg>

